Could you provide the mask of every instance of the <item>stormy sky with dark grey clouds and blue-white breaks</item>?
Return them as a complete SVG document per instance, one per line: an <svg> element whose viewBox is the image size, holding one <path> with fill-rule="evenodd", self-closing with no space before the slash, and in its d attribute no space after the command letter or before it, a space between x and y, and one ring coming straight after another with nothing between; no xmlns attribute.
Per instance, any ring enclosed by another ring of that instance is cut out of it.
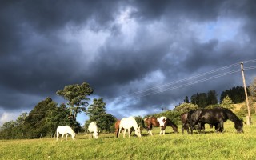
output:
<svg viewBox="0 0 256 160"><path fill-rule="evenodd" d="M116 118L256 77L256 1L0 2L0 125L88 82ZM79 114L82 124L86 114Z"/></svg>

